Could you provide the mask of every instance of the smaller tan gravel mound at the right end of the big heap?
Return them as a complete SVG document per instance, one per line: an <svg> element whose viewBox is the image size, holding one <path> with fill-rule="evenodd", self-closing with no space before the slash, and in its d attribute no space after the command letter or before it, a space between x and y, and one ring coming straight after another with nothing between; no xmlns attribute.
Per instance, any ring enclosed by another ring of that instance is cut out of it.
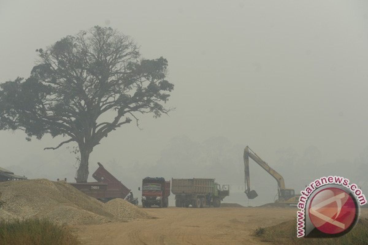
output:
<svg viewBox="0 0 368 245"><path fill-rule="evenodd" d="M105 203L106 209L114 216L119 218L148 218L146 212L137 206L121 198L112 199Z"/></svg>

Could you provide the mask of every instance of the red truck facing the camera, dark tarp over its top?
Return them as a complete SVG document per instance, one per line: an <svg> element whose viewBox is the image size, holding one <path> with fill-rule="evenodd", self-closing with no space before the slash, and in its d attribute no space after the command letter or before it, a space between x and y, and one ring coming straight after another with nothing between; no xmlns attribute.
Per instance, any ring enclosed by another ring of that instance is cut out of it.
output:
<svg viewBox="0 0 368 245"><path fill-rule="evenodd" d="M145 177L142 180L142 206L151 208L167 208L169 206L170 180L165 181L163 177Z"/></svg>

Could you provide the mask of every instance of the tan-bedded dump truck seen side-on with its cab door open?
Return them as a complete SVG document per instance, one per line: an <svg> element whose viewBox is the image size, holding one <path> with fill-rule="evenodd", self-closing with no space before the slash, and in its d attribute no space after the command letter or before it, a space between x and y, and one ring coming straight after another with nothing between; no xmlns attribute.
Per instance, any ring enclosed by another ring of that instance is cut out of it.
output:
<svg viewBox="0 0 368 245"><path fill-rule="evenodd" d="M215 182L215 179L171 179L171 192L175 195L175 206L219 208L221 201L229 196L230 186Z"/></svg>

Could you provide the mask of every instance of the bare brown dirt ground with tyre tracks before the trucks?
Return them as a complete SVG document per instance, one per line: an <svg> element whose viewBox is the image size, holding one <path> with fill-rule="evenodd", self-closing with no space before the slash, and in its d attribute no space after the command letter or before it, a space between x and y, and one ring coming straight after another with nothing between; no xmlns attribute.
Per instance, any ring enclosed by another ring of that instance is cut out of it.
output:
<svg viewBox="0 0 368 245"><path fill-rule="evenodd" d="M268 244L252 236L257 227L296 217L295 208L151 208L157 219L74 226L85 245ZM368 217L368 210L361 212Z"/></svg>

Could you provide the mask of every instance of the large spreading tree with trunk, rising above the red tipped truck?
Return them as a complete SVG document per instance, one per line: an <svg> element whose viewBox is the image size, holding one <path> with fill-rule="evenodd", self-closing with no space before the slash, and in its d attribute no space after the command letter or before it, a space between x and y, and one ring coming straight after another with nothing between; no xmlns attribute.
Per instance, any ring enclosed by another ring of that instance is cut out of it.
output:
<svg viewBox="0 0 368 245"><path fill-rule="evenodd" d="M64 136L55 147L76 142L81 154L77 182L88 178L93 147L139 114L167 114L174 85L166 80L167 60L141 58L130 36L94 26L66 36L45 50L27 79L0 84L0 130L23 130L27 140ZM111 120L102 116L113 113Z"/></svg>

